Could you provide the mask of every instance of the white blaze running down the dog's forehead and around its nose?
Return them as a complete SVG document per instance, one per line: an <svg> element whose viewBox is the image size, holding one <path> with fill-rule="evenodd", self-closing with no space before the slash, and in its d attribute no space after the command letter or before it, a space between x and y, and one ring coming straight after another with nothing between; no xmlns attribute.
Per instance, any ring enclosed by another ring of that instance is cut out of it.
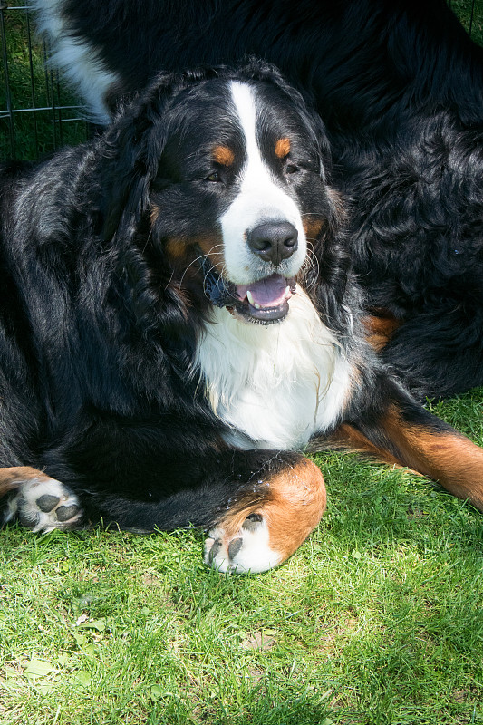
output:
<svg viewBox="0 0 483 725"><path fill-rule="evenodd" d="M276 182L263 158L257 138L254 88L247 83L232 81L230 92L245 140L246 163L239 174L237 197L221 218L228 276L237 284L252 282L254 275L260 276L260 260L248 248L246 233L270 221L290 222L298 232L298 249L280 269L281 274L287 277L295 276L306 254L299 208L283 188L284 181L279 179Z"/></svg>

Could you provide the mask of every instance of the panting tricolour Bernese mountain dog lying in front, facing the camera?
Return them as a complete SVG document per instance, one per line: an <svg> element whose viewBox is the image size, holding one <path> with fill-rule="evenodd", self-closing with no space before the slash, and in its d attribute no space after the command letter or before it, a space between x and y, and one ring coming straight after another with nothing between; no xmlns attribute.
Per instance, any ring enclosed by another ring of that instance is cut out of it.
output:
<svg viewBox="0 0 483 725"><path fill-rule="evenodd" d="M323 516L324 448L483 510L483 450L365 340L330 174L256 62L161 74L100 137L2 169L3 523L205 527L209 565L260 572Z"/></svg>

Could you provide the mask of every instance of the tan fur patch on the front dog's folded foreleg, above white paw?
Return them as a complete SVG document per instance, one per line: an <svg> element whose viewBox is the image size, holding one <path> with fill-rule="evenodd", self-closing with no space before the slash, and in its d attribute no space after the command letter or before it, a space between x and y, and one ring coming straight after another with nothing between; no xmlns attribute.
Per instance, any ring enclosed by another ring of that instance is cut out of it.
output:
<svg viewBox="0 0 483 725"><path fill-rule="evenodd" d="M246 517L264 517L269 531L269 546L285 561L304 543L323 517L326 507L324 478L320 469L300 456L298 463L263 479L261 488L249 498L237 501L217 526L225 535L235 536Z"/></svg>

